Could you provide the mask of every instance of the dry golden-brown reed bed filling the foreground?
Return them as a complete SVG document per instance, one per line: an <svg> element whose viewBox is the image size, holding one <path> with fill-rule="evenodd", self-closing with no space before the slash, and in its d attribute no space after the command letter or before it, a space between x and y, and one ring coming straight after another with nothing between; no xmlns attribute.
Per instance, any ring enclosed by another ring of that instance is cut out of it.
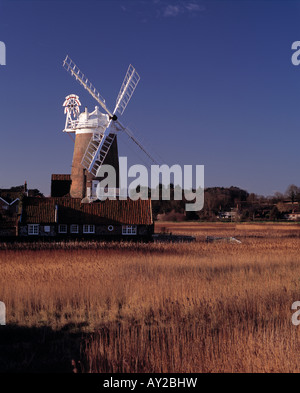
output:
<svg viewBox="0 0 300 393"><path fill-rule="evenodd" d="M299 372L299 227L160 225L197 241L0 251L8 323L71 324L83 372Z"/></svg>

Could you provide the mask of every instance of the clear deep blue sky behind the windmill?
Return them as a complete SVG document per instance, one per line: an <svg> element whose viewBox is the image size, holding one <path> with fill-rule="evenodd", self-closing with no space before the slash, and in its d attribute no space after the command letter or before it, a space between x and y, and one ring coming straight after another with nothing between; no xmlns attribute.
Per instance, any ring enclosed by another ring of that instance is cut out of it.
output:
<svg viewBox="0 0 300 393"><path fill-rule="evenodd" d="M48 195L51 174L71 171L62 103L95 102L66 54L111 108L132 63L141 81L123 122L166 163L205 165L206 187L300 186L299 20L300 1L0 0L0 187Z"/></svg>

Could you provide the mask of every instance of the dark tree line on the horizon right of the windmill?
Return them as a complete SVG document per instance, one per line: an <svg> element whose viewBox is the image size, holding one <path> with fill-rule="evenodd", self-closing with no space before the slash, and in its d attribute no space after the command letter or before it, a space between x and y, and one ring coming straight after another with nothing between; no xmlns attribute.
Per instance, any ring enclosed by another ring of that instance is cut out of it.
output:
<svg viewBox="0 0 300 393"><path fill-rule="evenodd" d="M172 194L171 187L171 194ZM204 207L199 212L185 212L181 201L152 201L153 216L158 220L185 221L276 221L292 219L299 213L300 187L291 184L284 193L271 196L249 193L239 187L209 187L204 190Z"/></svg>

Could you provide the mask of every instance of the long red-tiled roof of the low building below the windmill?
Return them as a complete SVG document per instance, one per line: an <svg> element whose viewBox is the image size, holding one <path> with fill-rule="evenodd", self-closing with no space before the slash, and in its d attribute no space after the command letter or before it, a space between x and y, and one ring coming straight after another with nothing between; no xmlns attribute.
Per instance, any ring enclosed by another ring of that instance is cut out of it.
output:
<svg viewBox="0 0 300 393"><path fill-rule="evenodd" d="M57 221L56 221L57 206ZM151 200L105 200L81 203L80 198L24 198L22 224L120 223L151 225Z"/></svg>

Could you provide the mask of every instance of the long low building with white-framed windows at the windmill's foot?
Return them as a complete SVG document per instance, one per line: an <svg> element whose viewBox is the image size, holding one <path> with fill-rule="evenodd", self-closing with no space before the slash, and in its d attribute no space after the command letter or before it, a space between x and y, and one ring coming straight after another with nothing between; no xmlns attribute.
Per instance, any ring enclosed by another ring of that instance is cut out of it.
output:
<svg viewBox="0 0 300 393"><path fill-rule="evenodd" d="M18 229L22 237L150 237L151 200L24 197Z"/></svg>

